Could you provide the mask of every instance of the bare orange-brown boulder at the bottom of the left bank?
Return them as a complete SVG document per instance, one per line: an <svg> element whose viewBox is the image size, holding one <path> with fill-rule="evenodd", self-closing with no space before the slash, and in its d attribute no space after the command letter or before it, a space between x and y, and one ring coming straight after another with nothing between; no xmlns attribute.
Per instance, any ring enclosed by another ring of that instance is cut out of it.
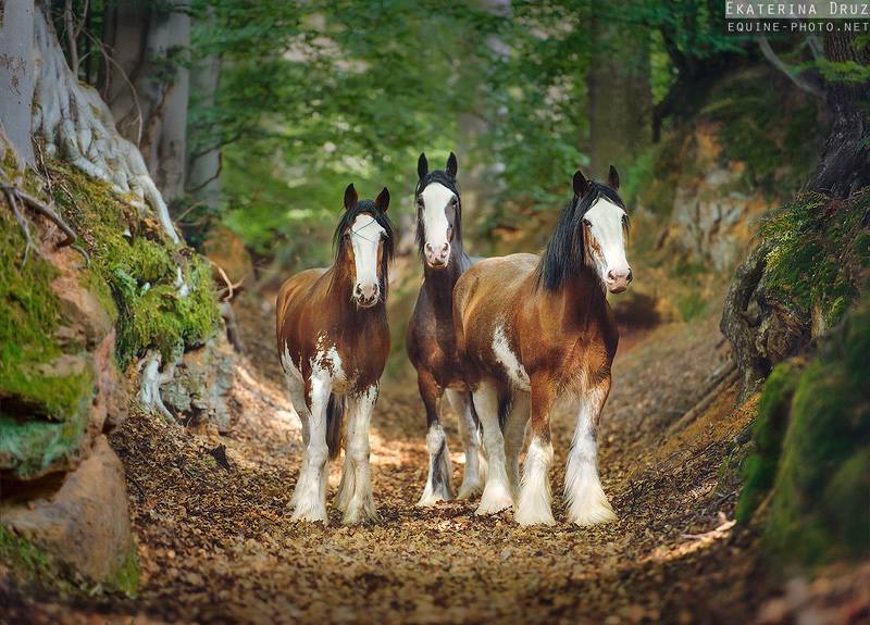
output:
<svg viewBox="0 0 870 625"><path fill-rule="evenodd" d="M124 587L135 567L124 467L104 436L57 491L0 503L0 523L90 582Z"/></svg>

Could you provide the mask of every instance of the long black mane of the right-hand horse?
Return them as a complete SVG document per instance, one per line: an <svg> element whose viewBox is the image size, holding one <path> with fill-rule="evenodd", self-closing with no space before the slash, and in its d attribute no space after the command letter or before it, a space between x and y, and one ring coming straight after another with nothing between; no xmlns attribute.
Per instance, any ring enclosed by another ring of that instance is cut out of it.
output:
<svg viewBox="0 0 870 625"><path fill-rule="evenodd" d="M548 291L559 290L586 266L582 239L583 216L599 198L625 208L617 191L602 183L589 180L589 190L582 198L572 198L559 215L559 222L537 265L535 284L538 287L543 286Z"/></svg>

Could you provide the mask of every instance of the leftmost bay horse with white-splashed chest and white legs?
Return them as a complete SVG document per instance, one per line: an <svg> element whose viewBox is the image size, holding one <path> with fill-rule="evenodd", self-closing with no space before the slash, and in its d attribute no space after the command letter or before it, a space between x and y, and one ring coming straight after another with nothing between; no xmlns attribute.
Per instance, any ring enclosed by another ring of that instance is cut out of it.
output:
<svg viewBox="0 0 870 625"><path fill-rule="evenodd" d="M340 451L345 413L345 464L335 504L345 524L377 520L369 426L389 352L386 298L394 232L388 207L386 188L374 201L360 201L348 185L335 229L335 262L293 276L278 291L278 355L304 445L294 521L327 522L327 462Z"/></svg>

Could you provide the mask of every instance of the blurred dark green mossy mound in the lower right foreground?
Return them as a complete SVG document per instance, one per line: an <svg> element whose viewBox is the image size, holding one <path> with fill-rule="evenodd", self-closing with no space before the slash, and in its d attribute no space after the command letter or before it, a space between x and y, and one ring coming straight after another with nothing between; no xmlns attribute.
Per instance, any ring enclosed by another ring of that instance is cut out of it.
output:
<svg viewBox="0 0 870 625"><path fill-rule="evenodd" d="M815 565L870 551L868 350L865 297L796 383L763 536L782 562ZM776 397L771 390L770 401Z"/></svg>

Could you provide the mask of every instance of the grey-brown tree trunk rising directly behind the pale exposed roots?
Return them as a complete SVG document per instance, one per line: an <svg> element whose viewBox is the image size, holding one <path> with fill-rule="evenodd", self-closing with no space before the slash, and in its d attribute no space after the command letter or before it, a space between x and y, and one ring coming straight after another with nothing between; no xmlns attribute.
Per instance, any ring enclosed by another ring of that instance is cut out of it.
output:
<svg viewBox="0 0 870 625"><path fill-rule="evenodd" d="M112 57L103 72L109 108L169 201L182 196L185 185L190 78L178 58L190 48L189 7L189 0L178 0L165 11L121 0L107 10L103 33Z"/></svg>

